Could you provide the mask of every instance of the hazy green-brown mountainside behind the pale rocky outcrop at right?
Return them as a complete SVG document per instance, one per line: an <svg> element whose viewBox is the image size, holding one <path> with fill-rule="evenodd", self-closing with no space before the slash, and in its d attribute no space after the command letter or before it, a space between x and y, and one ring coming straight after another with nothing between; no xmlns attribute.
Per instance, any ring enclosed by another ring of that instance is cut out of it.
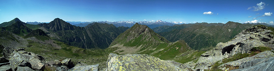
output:
<svg viewBox="0 0 274 71"><path fill-rule="evenodd" d="M174 29L159 34L171 42L184 40L192 49L200 50L202 48L215 47L219 42L227 42L242 30L251 26L253 25L229 21L222 26L205 26L199 24L181 30Z"/></svg>

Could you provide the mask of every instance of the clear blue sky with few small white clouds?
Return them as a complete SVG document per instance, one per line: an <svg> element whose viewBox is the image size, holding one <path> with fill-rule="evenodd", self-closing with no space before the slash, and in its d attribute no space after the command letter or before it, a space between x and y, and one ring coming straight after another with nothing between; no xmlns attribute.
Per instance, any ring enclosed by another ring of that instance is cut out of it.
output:
<svg viewBox="0 0 274 71"><path fill-rule="evenodd" d="M0 23L180 21L274 24L274 0L0 0Z"/></svg>

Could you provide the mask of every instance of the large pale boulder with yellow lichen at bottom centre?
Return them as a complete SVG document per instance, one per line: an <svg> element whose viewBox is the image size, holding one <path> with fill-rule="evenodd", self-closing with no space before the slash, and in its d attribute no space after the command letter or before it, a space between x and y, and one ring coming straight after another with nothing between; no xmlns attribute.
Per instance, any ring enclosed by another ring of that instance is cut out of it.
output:
<svg viewBox="0 0 274 71"><path fill-rule="evenodd" d="M114 56L107 64L107 71L187 71L181 68L181 63L160 60L146 54Z"/></svg>

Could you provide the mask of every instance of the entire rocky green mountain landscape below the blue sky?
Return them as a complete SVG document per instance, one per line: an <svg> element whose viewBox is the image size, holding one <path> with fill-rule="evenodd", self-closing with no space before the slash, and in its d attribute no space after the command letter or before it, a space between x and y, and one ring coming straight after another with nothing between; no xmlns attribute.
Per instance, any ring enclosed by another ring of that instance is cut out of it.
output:
<svg viewBox="0 0 274 71"><path fill-rule="evenodd" d="M270 71L266 23L166 21L0 24L0 71Z"/></svg>

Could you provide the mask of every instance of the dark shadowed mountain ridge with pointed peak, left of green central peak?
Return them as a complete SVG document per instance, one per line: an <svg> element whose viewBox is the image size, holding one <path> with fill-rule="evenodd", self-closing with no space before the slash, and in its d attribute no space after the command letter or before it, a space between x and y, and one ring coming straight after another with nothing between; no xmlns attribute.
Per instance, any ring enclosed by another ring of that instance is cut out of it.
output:
<svg viewBox="0 0 274 71"><path fill-rule="evenodd" d="M107 48L123 31L112 24L92 23L86 27L76 27L56 18L50 23L38 24L40 28L56 40L81 48Z"/></svg>

